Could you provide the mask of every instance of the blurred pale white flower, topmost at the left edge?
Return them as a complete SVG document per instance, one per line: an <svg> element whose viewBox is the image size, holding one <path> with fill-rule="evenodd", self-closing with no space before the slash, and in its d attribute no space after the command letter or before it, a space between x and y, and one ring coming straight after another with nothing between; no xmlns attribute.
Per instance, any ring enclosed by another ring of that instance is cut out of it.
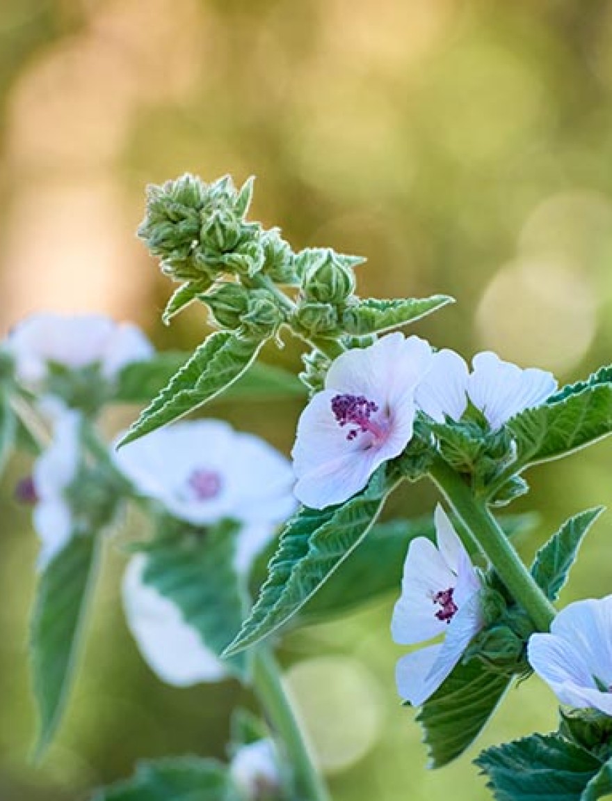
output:
<svg viewBox="0 0 612 801"><path fill-rule="evenodd" d="M115 323L102 315L36 314L18 324L6 339L18 380L36 389L45 380L48 364L84 368L99 364L107 379L126 364L150 359L153 347L133 324Z"/></svg>

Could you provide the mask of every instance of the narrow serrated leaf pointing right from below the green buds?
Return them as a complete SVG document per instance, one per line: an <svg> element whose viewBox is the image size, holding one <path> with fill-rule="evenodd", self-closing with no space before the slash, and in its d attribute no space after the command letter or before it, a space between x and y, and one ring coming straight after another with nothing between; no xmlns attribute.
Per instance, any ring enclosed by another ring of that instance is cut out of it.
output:
<svg viewBox="0 0 612 801"><path fill-rule="evenodd" d="M342 315L342 328L350 336L380 334L421 320L450 303L454 303L454 299L448 295L394 300L367 298L346 308Z"/></svg>

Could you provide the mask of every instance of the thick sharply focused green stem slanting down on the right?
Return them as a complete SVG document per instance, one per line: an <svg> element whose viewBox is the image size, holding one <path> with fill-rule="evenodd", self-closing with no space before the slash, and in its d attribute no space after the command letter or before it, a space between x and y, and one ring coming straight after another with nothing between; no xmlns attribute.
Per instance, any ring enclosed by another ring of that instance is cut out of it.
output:
<svg viewBox="0 0 612 801"><path fill-rule="evenodd" d="M430 477L466 528L470 530L499 578L529 614L534 626L540 631L548 631L556 610L534 582L529 570L522 563L486 505L474 497L466 482L440 457L434 460L430 468Z"/></svg>

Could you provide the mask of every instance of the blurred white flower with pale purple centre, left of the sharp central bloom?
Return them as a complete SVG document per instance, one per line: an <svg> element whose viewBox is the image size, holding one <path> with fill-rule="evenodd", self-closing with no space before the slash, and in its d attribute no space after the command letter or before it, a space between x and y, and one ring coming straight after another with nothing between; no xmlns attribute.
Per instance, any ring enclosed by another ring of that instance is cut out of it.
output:
<svg viewBox="0 0 612 801"><path fill-rule="evenodd" d="M218 420L178 423L114 451L140 493L193 525L232 518L238 570L247 570L275 527L294 512L289 462L252 434Z"/></svg>

